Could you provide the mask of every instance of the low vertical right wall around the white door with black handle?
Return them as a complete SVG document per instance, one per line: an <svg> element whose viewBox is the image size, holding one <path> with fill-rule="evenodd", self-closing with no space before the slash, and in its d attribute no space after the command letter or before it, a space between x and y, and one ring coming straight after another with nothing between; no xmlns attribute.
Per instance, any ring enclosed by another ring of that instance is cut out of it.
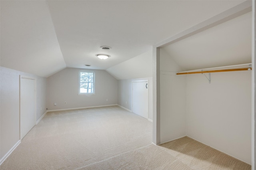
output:
<svg viewBox="0 0 256 170"><path fill-rule="evenodd" d="M152 77L118 80L118 105L132 111L132 81L148 80L148 119L153 115ZM127 102L127 104L126 104Z"/></svg>

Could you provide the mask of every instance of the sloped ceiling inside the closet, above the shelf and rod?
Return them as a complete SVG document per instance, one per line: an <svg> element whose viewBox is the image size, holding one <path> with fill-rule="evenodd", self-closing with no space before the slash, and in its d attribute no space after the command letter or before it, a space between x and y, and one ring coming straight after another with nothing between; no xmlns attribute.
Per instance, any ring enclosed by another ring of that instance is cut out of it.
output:
<svg viewBox="0 0 256 170"><path fill-rule="evenodd" d="M183 71L251 63L252 12L163 49Z"/></svg>

